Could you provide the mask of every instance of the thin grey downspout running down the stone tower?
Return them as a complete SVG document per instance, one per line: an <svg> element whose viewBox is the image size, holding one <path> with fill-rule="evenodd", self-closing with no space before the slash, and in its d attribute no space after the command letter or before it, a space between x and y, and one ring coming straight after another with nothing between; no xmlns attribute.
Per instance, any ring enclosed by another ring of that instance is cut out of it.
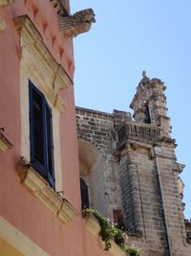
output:
<svg viewBox="0 0 191 256"><path fill-rule="evenodd" d="M160 169L159 169L159 158L158 158L158 152L157 152L156 147L154 147L154 151L155 151L155 158L156 158L156 164L157 164L157 173L158 173L158 179L159 179L159 191L160 191L160 196L161 196L161 204L162 204L162 208L163 208L164 224L165 224L165 230L166 230L167 244L168 244L168 248L169 248L169 256L173 256L172 246L171 246L171 241L170 241L170 236L169 236L169 230L168 230L168 221L167 221L167 217L166 217L166 207L165 207L163 189L162 189L162 184L161 184L161 173L160 173Z"/></svg>

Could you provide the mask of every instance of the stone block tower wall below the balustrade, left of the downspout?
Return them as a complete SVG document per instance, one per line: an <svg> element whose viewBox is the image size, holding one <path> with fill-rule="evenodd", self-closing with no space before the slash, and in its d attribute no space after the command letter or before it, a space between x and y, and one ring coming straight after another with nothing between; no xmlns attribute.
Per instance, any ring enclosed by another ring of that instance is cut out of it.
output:
<svg viewBox="0 0 191 256"><path fill-rule="evenodd" d="M149 148L138 145L135 150L127 145L122 152L119 180L123 214L130 244L142 248L142 255L165 255L167 242L159 180Z"/></svg>

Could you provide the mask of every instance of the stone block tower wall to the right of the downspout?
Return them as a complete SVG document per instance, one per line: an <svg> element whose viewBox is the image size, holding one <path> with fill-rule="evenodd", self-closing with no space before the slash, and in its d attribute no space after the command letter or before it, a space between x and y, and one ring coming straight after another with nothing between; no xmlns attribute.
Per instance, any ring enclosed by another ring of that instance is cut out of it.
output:
<svg viewBox="0 0 191 256"><path fill-rule="evenodd" d="M175 151L169 147L156 147L156 155L159 158L164 211L173 255L189 255L191 254L191 246L186 243L179 190L179 170L177 170L179 164L176 162Z"/></svg>

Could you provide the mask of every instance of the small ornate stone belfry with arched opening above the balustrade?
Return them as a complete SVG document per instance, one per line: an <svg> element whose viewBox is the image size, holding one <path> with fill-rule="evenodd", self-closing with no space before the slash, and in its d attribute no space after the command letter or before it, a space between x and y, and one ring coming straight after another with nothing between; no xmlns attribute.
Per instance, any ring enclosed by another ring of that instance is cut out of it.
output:
<svg viewBox="0 0 191 256"><path fill-rule="evenodd" d="M170 118L167 116L166 87L159 79L149 79L145 71L138 83L137 93L130 105L134 109L134 119L138 123L151 123L161 128L161 134L171 137Z"/></svg>

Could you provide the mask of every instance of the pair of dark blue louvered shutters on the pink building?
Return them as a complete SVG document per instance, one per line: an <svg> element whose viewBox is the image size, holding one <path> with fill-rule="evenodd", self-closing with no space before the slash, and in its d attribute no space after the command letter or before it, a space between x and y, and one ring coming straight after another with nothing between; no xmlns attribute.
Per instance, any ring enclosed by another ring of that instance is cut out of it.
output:
<svg viewBox="0 0 191 256"><path fill-rule="evenodd" d="M30 141L32 167L54 187L52 109L30 81Z"/></svg>

